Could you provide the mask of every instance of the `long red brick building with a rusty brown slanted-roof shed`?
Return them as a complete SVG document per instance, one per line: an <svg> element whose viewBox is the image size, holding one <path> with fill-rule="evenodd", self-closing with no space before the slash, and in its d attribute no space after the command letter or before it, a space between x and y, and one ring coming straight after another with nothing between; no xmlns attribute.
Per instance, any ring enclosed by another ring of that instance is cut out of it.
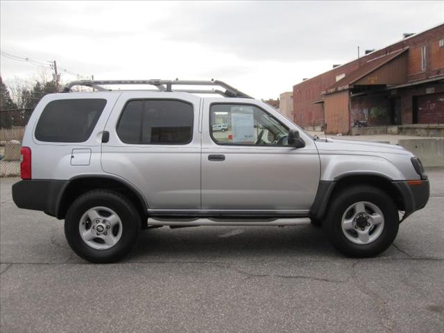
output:
<svg viewBox="0 0 444 333"><path fill-rule="evenodd" d="M293 86L293 112L296 123L325 123L330 134L358 134L373 126L442 133L444 24Z"/></svg>

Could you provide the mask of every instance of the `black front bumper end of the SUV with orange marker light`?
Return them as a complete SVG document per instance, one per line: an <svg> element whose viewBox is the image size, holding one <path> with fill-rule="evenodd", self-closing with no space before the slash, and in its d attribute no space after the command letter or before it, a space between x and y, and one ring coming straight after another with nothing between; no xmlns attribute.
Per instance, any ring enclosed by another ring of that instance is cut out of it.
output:
<svg viewBox="0 0 444 333"><path fill-rule="evenodd" d="M404 202L404 217L407 218L411 213L420 210L427 205L430 196L429 180L402 180L395 181L393 185L398 189Z"/></svg>

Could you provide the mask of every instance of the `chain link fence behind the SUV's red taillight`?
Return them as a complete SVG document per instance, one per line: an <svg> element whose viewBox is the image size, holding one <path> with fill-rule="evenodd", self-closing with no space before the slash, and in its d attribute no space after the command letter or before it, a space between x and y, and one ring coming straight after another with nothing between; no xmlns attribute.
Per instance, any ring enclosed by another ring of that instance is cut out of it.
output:
<svg viewBox="0 0 444 333"><path fill-rule="evenodd" d="M29 109L0 112L0 177L19 177L22 159L20 148L31 112Z"/></svg>

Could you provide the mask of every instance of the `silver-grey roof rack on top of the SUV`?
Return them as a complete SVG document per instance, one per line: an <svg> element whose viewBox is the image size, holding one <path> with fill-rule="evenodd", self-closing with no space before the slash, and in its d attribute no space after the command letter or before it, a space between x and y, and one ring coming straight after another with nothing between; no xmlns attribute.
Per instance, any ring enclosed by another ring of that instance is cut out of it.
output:
<svg viewBox="0 0 444 333"><path fill-rule="evenodd" d="M189 92L193 94L220 94L224 97L239 97L244 99L253 99L253 97L248 96L244 92L222 82L219 80L77 80L72 81L65 85L62 92L71 92L71 88L81 85L84 87L92 87L93 89L99 90L101 92L109 92L112 89L102 87L102 85L153 85L160 92ZM216 86L225 89L172 89L173 85L206 85L206 86Z"/></svg>

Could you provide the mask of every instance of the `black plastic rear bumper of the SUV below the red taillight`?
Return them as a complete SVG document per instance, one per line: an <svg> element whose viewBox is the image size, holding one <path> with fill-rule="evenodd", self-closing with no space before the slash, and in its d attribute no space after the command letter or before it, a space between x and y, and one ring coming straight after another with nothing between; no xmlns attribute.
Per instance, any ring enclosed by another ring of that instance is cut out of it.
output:
<svg viewBox="0 0 444 333"><path fill-rule="evenodd" d="M63 190L68 180L21 180L12 185L12 200L19 208L41 210L57 216Z"/></svg>

